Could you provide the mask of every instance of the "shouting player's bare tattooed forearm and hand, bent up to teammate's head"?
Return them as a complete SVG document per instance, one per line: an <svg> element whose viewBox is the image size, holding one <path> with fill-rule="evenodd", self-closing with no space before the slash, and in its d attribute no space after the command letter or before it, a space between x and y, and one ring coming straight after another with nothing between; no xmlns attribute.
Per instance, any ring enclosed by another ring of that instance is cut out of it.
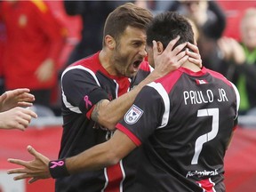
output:
<svg viewBox="0 0 256 192"><path fill-rule="evenodd" d="M157 54L156 42L153 42L155 70L143 81L140 82L131 92L127 92L116 100L100 100L92 111L92 120L98 122L109 130L114 130L118 121L122 119L126 111L132 106L135 97L143 86L165 76L167 73L180 68L188 55L183 51L187 44L180 44L172 50L179 37L172 40L161 55ZM199 58L200 59L200 58Z"/></svg>

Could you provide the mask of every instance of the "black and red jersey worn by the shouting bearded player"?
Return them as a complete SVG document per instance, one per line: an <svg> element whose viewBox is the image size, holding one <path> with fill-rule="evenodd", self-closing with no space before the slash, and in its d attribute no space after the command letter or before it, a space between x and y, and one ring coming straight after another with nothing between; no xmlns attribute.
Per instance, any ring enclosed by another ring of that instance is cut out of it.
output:
<svg viewBox="0 0 256 192"><path fill-rule="evenodd" d="M142 62L138 78L111 76L100 64L99 52L78 60L61 76L63 133L59 157L76 156L108 140L108 132L90 119L94 105L103 99L115 100L150 73ZM143 77L139 77L143 76ZM131 83L132 82L132 83ZM84 172L56 180L56 192L125 191L132 184L136 151L119 164L100 171Z"/></svg>

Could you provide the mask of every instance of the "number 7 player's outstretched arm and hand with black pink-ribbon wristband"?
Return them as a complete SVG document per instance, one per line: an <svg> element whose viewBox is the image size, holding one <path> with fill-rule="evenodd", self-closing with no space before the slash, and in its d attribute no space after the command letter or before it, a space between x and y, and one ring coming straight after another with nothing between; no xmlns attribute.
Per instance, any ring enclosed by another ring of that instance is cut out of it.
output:
<svg viewBox="0 0 256 192"><path fill-rule="evenodd" d="M19 174L13 180L31 178L31 180L28 180L28 183L51 177L60 178L69 174L99 170L116 164L134 148L136 148L136 145L133 141L119 130L116 130L110 140L89 148L76 156L68 157L65 160L50 161L49 158L38 153L31 146L28 146L28 152L35 158L32 161L8 159L8 162L21 165L22 168L12 169L7 171L7 173Z"/></svg>

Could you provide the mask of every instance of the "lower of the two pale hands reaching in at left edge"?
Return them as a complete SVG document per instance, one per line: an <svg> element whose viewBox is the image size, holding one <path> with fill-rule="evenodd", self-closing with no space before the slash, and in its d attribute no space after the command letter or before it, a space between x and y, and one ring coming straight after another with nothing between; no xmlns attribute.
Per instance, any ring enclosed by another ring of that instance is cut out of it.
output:
<svg viewBox="0 0 256 192"><path fill-rule="evenodd" d="M24 131L31 119L36 117L36 113L29 108L12 108L0 113L0 128Z"/></svg>

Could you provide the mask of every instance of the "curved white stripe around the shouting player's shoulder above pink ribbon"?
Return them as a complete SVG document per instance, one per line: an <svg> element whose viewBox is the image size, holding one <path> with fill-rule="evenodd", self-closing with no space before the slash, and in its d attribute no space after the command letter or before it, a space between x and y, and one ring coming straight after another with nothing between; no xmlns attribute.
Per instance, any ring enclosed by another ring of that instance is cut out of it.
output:
<svg viewBox="0 0 256 192"><path fill-rule="evenodd" d="M69 70L76 69L76 68L87 71L88 73L90 73L90 74L92 75L92 77L94 78L94 80L96 81L96 83L97 83L99 86L100 86L100 83L99 83L97 77L95 76L95 74L92 72L92 70L89 69L89 68L84 68L83 66L72 66L72 67L70 67L70 68L66 68L66 69L63 71L63 73L62 73L62 75L61 75L61 92L62 92L61 94L62 94L62 100L63 100L63 102L64 102L66 108L69 108L69 110L71 110L71 111L73 111L73 112L75 112L75 113L81 114L82 112L81 112L81 110L80 110L79 108L77 108L77 107L75 107L75 106L72 106L72 105L68 102L67 97L66 97L66 95L65 95L65 92L64 92L63 89L62 89L62 77L63 77Z"/></svg>

